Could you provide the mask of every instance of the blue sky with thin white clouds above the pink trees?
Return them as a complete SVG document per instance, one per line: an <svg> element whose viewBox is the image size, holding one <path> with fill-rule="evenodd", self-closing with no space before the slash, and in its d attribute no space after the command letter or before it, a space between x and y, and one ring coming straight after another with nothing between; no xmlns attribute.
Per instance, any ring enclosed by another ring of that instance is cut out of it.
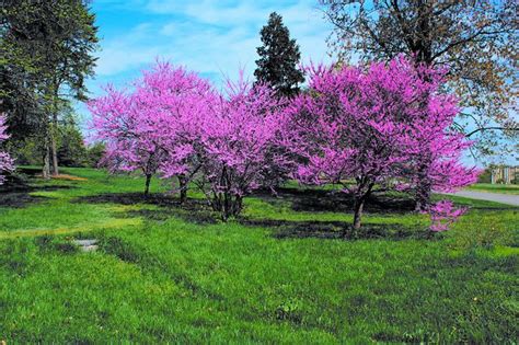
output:
<svg viewBox="0 0 519 345"><path fill-rule="evenodd" d="M108 82L124 85L157 57L217 84L224 76L235 77L240 67L252 76L260 30L273 11L284 16L303 61L326 61L325 39L332 26L316 4L316 0L94 0L101 50L89 89L95 96Z"/></svg>

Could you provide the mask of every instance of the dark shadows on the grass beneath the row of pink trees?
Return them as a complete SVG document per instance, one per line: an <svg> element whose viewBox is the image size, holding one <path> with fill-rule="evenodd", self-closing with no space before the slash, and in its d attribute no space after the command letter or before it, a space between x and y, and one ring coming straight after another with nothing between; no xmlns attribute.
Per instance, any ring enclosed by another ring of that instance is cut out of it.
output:
<svg viewBox="0 0 519 345"><path fill-rule="evenodd" d="M300 191L296 188L281 188L278 196L272 196L266 193L256 193L254 196L270 203L282 200L291 202L292 208L298 211L335 211L351 212L350 198L347 195L330 195L328 192L319 189ZM391 202L390 202L391 200ZM154 205L158 209L137 209L129 210L124 217L142 217L147 220L166 221L171 217L177 217L186 222L198 225L216 223L217 215L212 212L206 200L187 199L181 204L180 200L168 194L153 193L143 195L142 193L109 193L93 196L83 196L74 200L76 203L92 204L119 204L119 205ZM387 205L387 203L389 205ZM384 214L400 212L404 214L413 209L412 200L405 198L377 196L370 200L369 212ZM345 221L289 221L273 219L249 219L239 217L238 221L244 226L263 227L274 230L273 235L277 239L341 239L343 229L348 229L346 238L353 239L350 233L350 222ZM355 239L422 239L429 234L423 227L405 227L402 225L371 225L365 223L361 231Z"/></svg>

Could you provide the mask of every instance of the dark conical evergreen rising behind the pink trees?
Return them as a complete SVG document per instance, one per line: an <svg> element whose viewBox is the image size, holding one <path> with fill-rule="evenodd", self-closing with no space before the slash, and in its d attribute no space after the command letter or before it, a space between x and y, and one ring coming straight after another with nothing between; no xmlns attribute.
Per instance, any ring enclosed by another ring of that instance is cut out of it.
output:
<svg viewBox="0 0 519 345"><path fill-rule="evenodd" d="M260 59L254 71L258 82L270 84L278 95L292 96L299 92L304 76L298 69L299 46L290 39L290 33L281 15L270 13L267 25L261 31L263 46L257 48Z"/></svg>

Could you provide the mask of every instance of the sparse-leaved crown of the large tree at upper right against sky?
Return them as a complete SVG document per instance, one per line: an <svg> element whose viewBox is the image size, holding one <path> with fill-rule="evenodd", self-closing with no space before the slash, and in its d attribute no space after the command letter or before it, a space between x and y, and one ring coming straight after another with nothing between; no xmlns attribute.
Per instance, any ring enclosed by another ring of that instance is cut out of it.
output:
<svg viewBox="0 0 519 345"><path fill-rule="evenodd" d="M453 126L481 153L499 153L503 134L517 139L515 0L321 0L335 25L330 43L344 59L416 62L449 68L448 87L466 107Z"/></svg>

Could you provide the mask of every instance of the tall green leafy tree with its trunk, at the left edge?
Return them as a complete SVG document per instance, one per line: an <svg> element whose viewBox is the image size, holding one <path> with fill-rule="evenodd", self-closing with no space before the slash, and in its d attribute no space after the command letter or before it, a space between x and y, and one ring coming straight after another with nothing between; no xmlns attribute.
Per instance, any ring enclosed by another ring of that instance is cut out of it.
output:
<svg viewBox="0 0 519 345"><path fill-rule="evenodd" d="M11 111L21 108L23 112L18 113L23 114L28 114L28 110L19 103L23 99L35 100L35 114L41 116L37 123L43 124L45 131L44 176L49 175L50 157L53 173L59 172L60 110L70 99L85 100L84 80L93 74L96 31L86 0L2 1L1 47L10 54L2 61L1 70L2 73L15 72L3 96ZM19 128L11 130L19 131Z"/></svg>

